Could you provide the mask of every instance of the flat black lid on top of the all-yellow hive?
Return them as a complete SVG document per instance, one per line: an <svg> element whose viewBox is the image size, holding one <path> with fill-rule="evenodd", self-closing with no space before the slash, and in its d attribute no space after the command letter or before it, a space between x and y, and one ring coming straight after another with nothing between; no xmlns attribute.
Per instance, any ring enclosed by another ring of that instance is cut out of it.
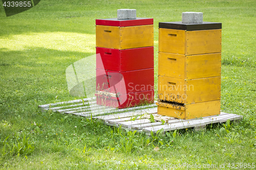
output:
<svg viewBox="0 0 256 170"><path fill-rule="evenodd" d="M182 23L181 21L159 22L159 28L186 30L186 31L216 30L216 29L222 28L222 23L221 22Z"/></svg>

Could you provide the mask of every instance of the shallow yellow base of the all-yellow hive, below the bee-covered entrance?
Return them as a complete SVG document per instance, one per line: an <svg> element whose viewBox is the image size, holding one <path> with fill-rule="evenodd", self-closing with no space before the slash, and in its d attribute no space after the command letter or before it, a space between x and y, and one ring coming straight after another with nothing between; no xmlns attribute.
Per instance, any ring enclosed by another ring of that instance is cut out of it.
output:
<svg viewBox="0 0 256 170"><path fill-rule="evenodd" d="M157 113L165 116L181 119L199 118L220 114L221 102L209 101L189 105L175 105L165 102L157 102Z"/></svg>

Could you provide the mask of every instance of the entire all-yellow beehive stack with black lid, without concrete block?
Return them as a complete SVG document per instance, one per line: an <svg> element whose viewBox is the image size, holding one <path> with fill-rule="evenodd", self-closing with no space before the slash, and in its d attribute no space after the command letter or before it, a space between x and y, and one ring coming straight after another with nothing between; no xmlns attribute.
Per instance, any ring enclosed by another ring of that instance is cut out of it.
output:
<svg viewBox="0 0 256 170"><path fill-rule="evenodd" d="M220 113L221 23L159 22L158 114Z"/></svg>

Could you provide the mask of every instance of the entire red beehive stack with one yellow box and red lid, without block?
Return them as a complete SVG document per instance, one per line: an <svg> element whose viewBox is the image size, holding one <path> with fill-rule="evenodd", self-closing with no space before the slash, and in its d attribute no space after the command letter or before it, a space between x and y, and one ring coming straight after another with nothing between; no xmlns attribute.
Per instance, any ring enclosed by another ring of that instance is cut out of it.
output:
<svg viewBox="0 0 256 170"><path fill-rule="evenodd" d="M96 19L97 104L154 102L153 18Z"/></svg>

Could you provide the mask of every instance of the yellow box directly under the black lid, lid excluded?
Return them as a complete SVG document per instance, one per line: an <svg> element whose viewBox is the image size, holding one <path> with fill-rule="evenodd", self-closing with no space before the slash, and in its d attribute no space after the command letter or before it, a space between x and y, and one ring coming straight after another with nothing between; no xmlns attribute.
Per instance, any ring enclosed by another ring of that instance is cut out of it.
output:
<svg viewBox="0 0 256 170"><path fill-rule="evenodd" d="M185 55L221 53L221 29L186 31L160 28L159 52Z"/></svg>

